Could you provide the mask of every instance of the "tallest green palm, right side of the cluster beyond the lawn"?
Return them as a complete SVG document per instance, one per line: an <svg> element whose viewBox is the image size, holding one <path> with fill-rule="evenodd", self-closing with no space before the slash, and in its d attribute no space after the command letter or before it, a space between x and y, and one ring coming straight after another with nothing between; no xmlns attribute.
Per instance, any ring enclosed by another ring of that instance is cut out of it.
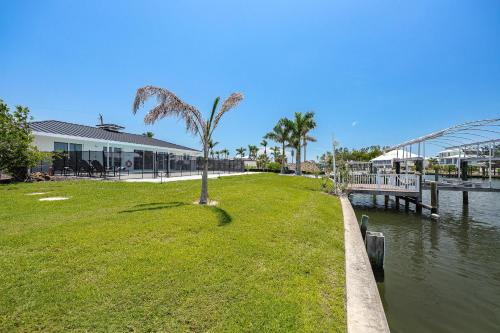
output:
<svg viewBox="0 0 500 333"><path fill-rule="evenodd" d="M306 112L305 114L302 114L301 112L295 112L294 119L287 119L285 124L290 130L290 146L295 148L296 151L295 174L300 176L302 174L300 152L304 143L304 137L307 136L307 133L316 126L316 123L314 122L314 113Z"/></svg>

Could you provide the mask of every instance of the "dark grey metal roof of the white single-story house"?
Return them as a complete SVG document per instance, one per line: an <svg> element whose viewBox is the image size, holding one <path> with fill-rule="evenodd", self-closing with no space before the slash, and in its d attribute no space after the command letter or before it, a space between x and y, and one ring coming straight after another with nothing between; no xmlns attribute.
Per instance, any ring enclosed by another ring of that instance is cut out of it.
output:
<svg viewBox="0 0 500 333"><path fill-rule="evenodd" d="M123 143L133 143L144 146L155 146L163 148L182 149L199 152L199 150L176 145L163 140L150 138L144 135L131 134L125 132L108 131L102 128L72 124L58 120L33 121L30 127L34 132L43 132L48 134L69 135L89 139L118 141Z"/></svg>

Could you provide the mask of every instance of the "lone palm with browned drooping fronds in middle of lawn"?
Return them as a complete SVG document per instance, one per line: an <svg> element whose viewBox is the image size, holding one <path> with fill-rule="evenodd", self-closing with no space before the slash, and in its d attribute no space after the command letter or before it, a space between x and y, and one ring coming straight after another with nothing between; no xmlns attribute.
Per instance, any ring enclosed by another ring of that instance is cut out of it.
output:
<svg viewBox="0 0 500 333"><path fill-rule="evenodd" d="M214 130L219 125L222 116L243 100L243 95L240 93L232 93L219 106L220 97L215 98L210 117L203 119L201 112L192 105L189 105L177 97L174 93L167 89L146 86L137 89L135 95L132 112L135 114L141 106L150 98L156 97L157 105L149 110L144 117L144 123L153 124L157 120L165 117L176 116L184 120L186 130L194 135L200 136L201 144L203 145L203 175L201 177L201 194L200 204L208 203L208 143L212 139Z"/></svg>

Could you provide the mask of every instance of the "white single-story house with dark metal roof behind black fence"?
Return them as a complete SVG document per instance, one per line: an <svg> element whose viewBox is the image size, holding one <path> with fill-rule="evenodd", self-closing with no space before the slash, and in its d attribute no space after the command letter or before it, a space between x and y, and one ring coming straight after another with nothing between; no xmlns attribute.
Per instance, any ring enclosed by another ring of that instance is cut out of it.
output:
<svg viewBox="0 0 500 333"><path fill-rule="evenodd" d="M185 159L202 156L196 149L122 132L124 128L115 124L92 127L46 120L34 121L30 127L34 144L40 151L67 153L73 164L81 160L99 160L108 167L147 170L154 168L155 161L166 160L167 154Z"/></svg>

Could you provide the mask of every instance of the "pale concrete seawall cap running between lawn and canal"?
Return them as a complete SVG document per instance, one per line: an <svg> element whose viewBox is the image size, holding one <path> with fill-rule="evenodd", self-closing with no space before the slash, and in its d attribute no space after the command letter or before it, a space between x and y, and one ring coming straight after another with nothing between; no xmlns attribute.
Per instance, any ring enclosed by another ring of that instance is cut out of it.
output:
<svg viewBox="0 0 500 333"><path fill-rule="evenodd" d="M347 331L389 332L354 209L347 197L340 201L344 215Z"/></svg>

